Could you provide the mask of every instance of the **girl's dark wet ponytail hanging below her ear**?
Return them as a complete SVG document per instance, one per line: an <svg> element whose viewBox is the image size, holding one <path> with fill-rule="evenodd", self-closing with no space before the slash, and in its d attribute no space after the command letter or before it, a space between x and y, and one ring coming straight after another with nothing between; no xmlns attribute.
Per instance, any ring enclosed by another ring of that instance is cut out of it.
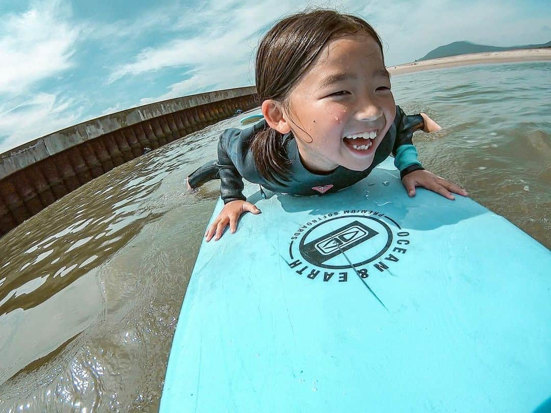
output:
<svg viewBox="0 0 551 413"><path fill-rule="evenodd" d="M289 181L290 160L286 156L281 133L271 127L258 131L252 137L251 151L256 168L264 179L279 184Z"/></svg>

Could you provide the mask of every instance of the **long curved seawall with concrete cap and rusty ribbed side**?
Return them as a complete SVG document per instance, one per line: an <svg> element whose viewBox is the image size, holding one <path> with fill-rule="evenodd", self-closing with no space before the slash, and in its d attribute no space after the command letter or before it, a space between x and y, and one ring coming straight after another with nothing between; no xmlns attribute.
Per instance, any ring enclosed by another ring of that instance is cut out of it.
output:
<svg viewBox="0 0 551 413"><path fill-rule="evenodd" d="M112 168L258 106L256 88L183 96L98 117L0 154L0 236Z"/></svg>

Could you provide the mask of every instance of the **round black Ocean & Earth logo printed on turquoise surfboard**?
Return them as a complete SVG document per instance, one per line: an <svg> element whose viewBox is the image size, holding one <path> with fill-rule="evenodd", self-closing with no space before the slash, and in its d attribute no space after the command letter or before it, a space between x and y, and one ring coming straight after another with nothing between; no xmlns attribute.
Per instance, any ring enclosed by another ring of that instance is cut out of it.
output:
<svg viewBox="0 0 551 413"><path fill-rule="evenodd" d="M384 272L407 253L409 232L384 213L344 210L312 219L291 236L290 269L310 280Z"/></svg>

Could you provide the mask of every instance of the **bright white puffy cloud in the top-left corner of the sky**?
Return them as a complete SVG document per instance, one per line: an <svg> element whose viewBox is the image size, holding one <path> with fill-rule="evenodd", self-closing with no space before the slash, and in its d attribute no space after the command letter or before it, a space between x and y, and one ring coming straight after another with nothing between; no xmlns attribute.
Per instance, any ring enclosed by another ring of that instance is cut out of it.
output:
<svg viewBox="0 0 551 413"><path fill-rule="evenodd" d="M0 23L0 95L17 95L70 67L79 29L60 18L57 2L36 4Z"/></svg>

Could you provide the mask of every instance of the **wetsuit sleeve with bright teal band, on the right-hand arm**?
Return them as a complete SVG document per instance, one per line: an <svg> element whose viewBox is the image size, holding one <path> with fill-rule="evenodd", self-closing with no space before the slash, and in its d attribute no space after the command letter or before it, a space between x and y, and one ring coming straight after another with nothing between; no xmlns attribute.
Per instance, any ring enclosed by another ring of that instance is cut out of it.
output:
<svg viewBox="0 0 551 413"><path fill-rule="evenodd" d="M425 169L417 158L417 149L413 146L413 132L422 130L425 126L421 115L406 115L404 111L396 106L396 141L392 148L394 165L400 171L400 178L403 178L414 170Z"/></svg>

